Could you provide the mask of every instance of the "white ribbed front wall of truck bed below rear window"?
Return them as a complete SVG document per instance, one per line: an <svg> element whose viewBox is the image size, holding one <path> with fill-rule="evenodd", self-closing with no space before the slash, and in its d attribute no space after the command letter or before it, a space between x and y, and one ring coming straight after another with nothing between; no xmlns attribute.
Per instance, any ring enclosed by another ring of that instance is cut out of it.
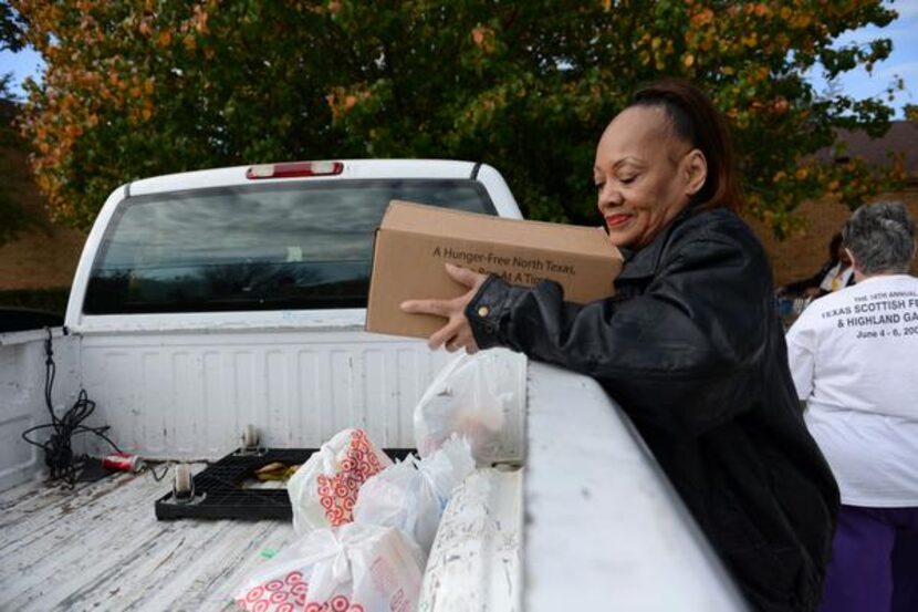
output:
<svg viewBox="0 0 918 612"><path fill-rule="evenodd" d="M88 334L83 384L113 439L145 457L216 458L247 424L269 447L345 427L413 448L414 406L446 362L424 343L323 330Z"/></svg>

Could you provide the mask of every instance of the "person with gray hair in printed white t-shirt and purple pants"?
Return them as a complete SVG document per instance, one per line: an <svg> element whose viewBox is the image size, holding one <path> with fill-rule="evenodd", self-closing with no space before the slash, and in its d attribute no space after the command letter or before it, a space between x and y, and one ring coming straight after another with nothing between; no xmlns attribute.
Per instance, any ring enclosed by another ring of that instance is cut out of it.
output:
<svg viewBox="0 0 918 612"><path fill-rule="evenodd" d="M918 278L899 203L843 229L857 284L787 332L804 418L842 492L822 612L918 610Z"/></svg>

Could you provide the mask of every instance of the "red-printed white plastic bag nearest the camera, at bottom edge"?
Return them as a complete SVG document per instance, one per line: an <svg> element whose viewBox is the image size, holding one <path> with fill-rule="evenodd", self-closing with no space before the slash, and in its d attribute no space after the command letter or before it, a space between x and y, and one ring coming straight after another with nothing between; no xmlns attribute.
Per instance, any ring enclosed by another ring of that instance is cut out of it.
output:
<svg viewBox="0 0 918 612"><path fill-rule="evenodd" d="M411 612L424 568L401 531L348 523L294 540L233 594L253 612Z"/></svg>

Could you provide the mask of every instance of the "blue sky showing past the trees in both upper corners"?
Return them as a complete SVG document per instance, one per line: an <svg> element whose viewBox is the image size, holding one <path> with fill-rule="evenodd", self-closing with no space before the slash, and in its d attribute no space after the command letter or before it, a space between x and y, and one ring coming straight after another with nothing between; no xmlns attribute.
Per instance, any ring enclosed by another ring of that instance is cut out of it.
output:
<svg viewBox="0 0 918 612"><path fill-rule="evenodd" d="M893 53L876 64L872 74L864 70L844 73L838 79L841 91L855 98L883 96L885 90L896 76L905 80L905 91L898 92L893 103L895 118L904 118L905 104L918 104L918 0L895 0L889 3L899 18L886 28L860 28L838 38L837 44L851 42L866 43L875 38L885 37L893 40ZM0 74L13 73L12 93L22 96L22 80L27 76L40 79L43 63L41 56L32 50L11 53L0 51ZM814 70L809 75L817 92L826 89L825 80Z"/></svg>

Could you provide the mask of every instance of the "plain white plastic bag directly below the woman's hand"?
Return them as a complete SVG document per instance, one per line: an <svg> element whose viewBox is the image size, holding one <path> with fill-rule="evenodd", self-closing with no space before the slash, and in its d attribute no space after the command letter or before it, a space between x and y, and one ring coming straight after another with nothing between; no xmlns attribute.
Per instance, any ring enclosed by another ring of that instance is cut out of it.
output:
<svg viewBox="0 0 918 612"><path fill-rule="evenodd" d="M509 400L499 390L499 359L491 351L462 354L437 374L415 406L415 444L421 457L458 434L469 440L479 465L498 458Z"/></svg>

